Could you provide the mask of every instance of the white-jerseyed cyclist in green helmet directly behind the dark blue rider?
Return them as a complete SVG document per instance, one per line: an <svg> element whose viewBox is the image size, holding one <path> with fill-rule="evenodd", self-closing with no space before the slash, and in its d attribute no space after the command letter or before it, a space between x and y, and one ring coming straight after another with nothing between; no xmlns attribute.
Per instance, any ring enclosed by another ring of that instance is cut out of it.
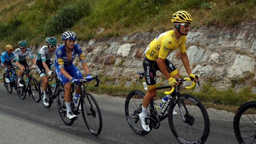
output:
<svg viewBox="0 0 256 144"><path fill-rule="evenodd" d="M36 68L38 70L38 73L43 83L43 91L44 91L44 97L43 102L45 106L49 106L49 103L47 101L47 84L49 83L49 79L46 75L46 71L48 72L48 75L52 77L52 73L55 69L54 63L51 61L51 56L55 53L57 48L57 40L54 37L48 37L46 38L45 42L47 43L47 46L42 46L40 50L38 51L38 55L35 58L36 59Z"/></svg>

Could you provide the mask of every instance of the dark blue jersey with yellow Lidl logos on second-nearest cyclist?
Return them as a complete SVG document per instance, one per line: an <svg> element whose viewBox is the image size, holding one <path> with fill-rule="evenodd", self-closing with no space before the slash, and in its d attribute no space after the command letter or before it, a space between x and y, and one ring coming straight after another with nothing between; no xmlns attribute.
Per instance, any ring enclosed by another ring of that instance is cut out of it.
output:
<svg viewBox="0 0 256 144"><path fill-rule="evenodd" d="M67 61L67 51L65 49L65 45L61 45L56 50L56 58L55 62L58 65L59 68L64 67L67 68L72 65L75 56L78 54L79 60L83 63L85 62L84 56L82 53L82 48L79 45L74 45L74 48L72 49L72 58L71 61ZM57 67L57 66L56 66Z"/></svg>

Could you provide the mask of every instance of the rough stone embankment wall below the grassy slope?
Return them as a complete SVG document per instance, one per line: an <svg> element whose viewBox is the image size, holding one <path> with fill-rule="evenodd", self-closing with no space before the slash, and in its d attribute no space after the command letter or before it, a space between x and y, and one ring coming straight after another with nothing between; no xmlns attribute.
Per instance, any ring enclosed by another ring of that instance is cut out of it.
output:
<svg viewBox="0 0 256 144"><path fill-rule="evenodd" d="M200 27L191 29L187 35L186 53L191 70L198 74L203 82L208 76L216 88L226 89L248 73L255 73L256 65L256 23L241 24L229 29ZM103 30L103 29L102 29ZM117 38L92 39L89 42L78 41L86 56L86 62L92 74L102 73L109 77L128 77L127 86L136 81L138 70L143 70L142 61L147 45L161 32L147 32L122 35ZM34 56L40 47L31 47ZM179 57L179 50L173 51L168 59L186 76ZM81 67L78 58L74 64ZM160 75L160 73L159 73ZM253 79L256 79L254 77ZM159 76L157 81L161 81ZM118 84L120 79L108 84ZM237 86L239 87L239 86ZM255 88L254 88L255 89Z"/></svg>

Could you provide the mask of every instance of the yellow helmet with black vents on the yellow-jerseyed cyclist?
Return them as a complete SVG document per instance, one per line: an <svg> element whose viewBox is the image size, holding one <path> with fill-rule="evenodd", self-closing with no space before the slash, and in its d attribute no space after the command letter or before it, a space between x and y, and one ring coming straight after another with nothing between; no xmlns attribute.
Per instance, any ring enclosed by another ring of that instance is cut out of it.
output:
<svg viewBox="0 0 256 144"><path fill-rule="evenodd" d="M184 10L179 10L173 14L173 18L171 21L174 23L175 22L191 22L192 17L188 12Z"/></svg>

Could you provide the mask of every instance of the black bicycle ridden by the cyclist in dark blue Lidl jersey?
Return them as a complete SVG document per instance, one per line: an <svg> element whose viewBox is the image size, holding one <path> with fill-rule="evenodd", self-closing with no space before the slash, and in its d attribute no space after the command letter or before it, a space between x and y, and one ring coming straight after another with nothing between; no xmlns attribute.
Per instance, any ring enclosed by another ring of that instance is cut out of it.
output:
<svg viewBox="0 0 256 144"><path fill-rule="evenodd" d="M96 80L97 84L95 86L98 86L101 81L99 80L99 77L96 75L93 79ZM87 80L82 79L81 82L76 85L75 83L72 83L72 91L71 94L71 110L75 115L80 114L79 112L79 106L81 104L81 112L83 115L83 120L86 124L86 127L89 129L89 131L94 134L98 135L101 132L102 129L102 116L99 109L99 105L96 101L96 99L93 97L92 94L86 92L86 87L88 86ZM79 86L81 88L77 105L74 104L73 95L74 89L76 86ZM57 106L59 114L61 115L61 119L66 125L72 125L74 120L77 119L77 117L69 119L67 118L67 108L64 100L64 93L65 89L60 88L57 93Z"/></svg>

